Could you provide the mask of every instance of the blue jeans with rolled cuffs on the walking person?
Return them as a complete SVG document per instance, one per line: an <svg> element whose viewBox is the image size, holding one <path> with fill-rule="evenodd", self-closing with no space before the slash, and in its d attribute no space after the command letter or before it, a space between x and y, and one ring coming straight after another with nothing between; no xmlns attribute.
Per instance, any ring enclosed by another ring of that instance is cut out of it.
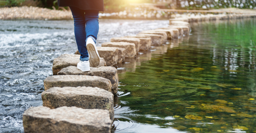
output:
<svg viewBox="0 0 256 133"><path fill-rule="evenodd" d="M81 10L73 6L69 8L74 18L75 38L78 51L81 54L80 60L89 60L86 41L88 38L92 38L96 43L99 32L99 11Z"/></svg>

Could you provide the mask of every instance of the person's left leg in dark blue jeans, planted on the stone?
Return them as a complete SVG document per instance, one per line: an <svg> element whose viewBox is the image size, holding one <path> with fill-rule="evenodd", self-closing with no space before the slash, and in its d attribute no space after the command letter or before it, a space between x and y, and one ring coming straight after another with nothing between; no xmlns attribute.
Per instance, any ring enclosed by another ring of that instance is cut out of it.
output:
<svg viewBox="0 0 256 133"><path fill-rule="evenodd" d="M73 18L74 18L74 28L75 28L75 38L76 44L80 55L81 61L89 60L88 51L86 48L86 32L85 32L85 17L84 11L77 7L69 7Z"/></svg>

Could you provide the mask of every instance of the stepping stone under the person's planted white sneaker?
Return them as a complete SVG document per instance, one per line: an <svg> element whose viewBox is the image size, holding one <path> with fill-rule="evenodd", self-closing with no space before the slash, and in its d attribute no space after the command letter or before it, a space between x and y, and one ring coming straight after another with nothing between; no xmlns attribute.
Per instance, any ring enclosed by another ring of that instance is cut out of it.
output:
<svg viewBox="0 0 256 133"><path fill-rule="evenodd" d="M111 82L111 92L113 94L117 93L118 75L115 67L90 67L90 69L91 71L89 72L82 72L79 69L77 69L77 67L69 66L61 69L60 72L58 72L58 75L88 75L103 77Z"/></svg>

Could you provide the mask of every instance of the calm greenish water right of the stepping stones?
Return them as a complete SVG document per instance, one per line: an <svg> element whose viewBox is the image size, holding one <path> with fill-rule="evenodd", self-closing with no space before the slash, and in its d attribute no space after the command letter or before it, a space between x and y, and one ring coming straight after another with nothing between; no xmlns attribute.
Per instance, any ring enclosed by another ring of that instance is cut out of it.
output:
<svg viewBox="0 0 256 133"><path fill-rule="evenodd" d="M115 132L256 132L256 19L191 30L118 70Z"/></svg>

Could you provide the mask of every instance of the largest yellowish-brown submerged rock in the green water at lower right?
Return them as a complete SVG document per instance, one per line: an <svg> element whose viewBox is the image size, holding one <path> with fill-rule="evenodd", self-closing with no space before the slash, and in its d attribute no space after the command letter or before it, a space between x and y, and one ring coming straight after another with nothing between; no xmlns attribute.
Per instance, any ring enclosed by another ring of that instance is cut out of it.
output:
<svg viewBox="0 0 256 133"><path fill-rule="evenodd" d="M198 106L198 108L202 109L202 110L236 113L236 111L234 109L227 107L227 106L220 106L220 105L201 104Z"/></svg>

